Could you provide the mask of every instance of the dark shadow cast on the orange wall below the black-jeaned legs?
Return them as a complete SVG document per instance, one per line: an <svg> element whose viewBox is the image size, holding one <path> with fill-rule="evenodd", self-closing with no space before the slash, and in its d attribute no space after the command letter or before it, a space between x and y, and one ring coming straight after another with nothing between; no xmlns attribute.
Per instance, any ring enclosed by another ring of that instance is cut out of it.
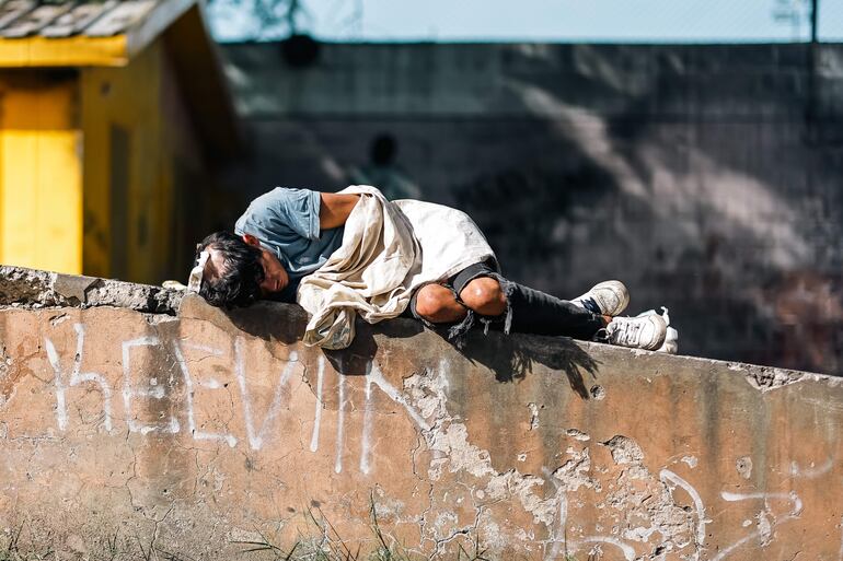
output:
<svg viewBox="0 0 843 561"><path fill-rule="evenodd" d="M444 330L437 330L444 335ZM536 363L561 371L570 388L582 399L590 399L582 374L597 377L599 362L567 337L490 331L470 331L461 346L451 346L472 363L480 363L495 373L498 382L521 379L532 373Z"/></svg>

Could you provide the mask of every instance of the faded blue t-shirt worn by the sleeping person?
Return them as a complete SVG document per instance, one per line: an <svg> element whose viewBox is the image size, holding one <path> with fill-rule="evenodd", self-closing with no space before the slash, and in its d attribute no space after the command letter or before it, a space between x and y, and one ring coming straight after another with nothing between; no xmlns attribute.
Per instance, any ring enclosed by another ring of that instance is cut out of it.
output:
<svg viewBox="0 0 843 561"><path fill-rule="evenodd" d="M255 236L287 269L290 283L280 300L295 300L301 278L343 245L342 226L320 230L319 209L317 191L276 187L253 200L234 224L235 234Z"/></svg>

